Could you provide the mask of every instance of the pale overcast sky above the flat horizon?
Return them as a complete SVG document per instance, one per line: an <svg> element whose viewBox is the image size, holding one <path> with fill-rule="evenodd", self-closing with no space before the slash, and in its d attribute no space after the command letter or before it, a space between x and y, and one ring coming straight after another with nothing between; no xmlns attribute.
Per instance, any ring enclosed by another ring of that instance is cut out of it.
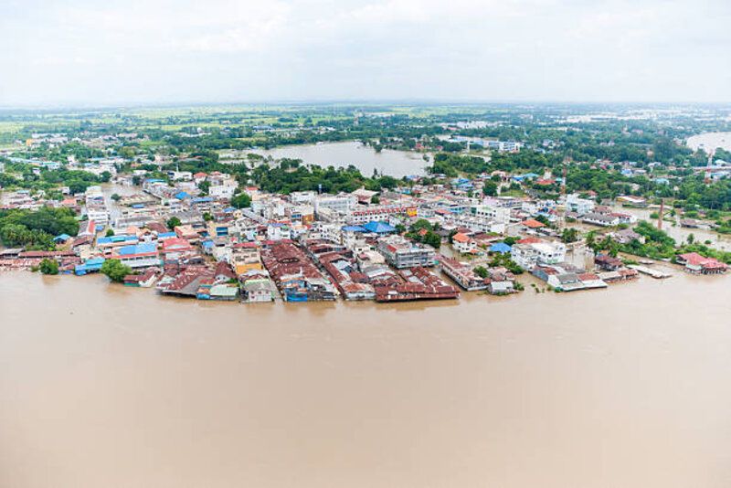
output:
<svg viewBox="0 0 731 488"><path fill-rule="evenodd" d="M0 0L0 105L731 101L731 0Z"/></svg>

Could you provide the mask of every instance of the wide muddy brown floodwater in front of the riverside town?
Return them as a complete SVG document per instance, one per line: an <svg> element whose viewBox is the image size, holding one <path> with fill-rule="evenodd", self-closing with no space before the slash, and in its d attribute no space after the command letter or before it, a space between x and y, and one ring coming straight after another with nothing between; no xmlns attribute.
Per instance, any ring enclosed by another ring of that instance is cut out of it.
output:
<svg viewBox="0 0 731 488"><path fill-rule="evenodd" d="M0 486L731 486L731 280L378 305L0 274Z"/></svg>

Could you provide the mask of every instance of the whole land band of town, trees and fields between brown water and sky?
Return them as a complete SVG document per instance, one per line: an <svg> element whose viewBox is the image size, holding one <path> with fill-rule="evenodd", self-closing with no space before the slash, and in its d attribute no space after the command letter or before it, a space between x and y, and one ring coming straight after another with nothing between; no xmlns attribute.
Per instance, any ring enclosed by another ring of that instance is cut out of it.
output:
<svg viewBox="0 0 731 488"><path fill-rule="evenodd" d="M731 263L731 146L689 142L731 130L721 109L152 112L0 113L0 270L197 300L408 302Z"/></svg>

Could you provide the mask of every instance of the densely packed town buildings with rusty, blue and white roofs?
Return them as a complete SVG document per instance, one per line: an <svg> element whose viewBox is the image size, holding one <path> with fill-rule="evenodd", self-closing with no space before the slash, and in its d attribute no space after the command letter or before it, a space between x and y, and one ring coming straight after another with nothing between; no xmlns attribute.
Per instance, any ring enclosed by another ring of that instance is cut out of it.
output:
<svg viewBox="0 0 731 488"><path fill-rule="evenodd" d="M117 163L93 161L85 169L108 171ZM100 186L90 186L82 197L58 202L84 217L79 235L59 236L58 251L5 249L0 268L31 268L55 259L61 272L84 275L100 271L106 260L119 260L132 270L125 285L242 302L398 302L455 299L461 290L516 292L514 273L492 265L494 255L509 256L557 291L603 288L637 277L637 271L607 256L597 256L589 269L567 262L567 245L555 226L547 225L573 217L609 228L634 223L632 215L578 195L560 201L482 195L489 179L508 184L538 175L494 172L473 180L337 195L271 194L239 186L236 178L219 172L145 176L143 170L116 175L114 182L125 188L116 201ZM231 205L240 193L249 196L249 207ZM627 205L641 206L627 198ZM11 205L34 202L16 192ZM405 231L419 221L432 230L421 226L416 237L409 232L407 238ZM441 246L443 252L419 239L429 232L449 243ZM629 228L611 235L618 241L639 238ZM692 272L726 271L723 263L697 255L683 255L679 262Z"/></svg>

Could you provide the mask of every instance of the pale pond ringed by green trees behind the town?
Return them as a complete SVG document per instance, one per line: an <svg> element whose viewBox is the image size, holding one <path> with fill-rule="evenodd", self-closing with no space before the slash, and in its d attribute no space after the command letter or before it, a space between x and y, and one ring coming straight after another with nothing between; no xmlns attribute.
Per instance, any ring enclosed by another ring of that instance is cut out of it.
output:
<svg viewBox="0 0 731 488"><path fill-rule="evenodd" d="M252 150L256 153L271 156L275 159L282 157L302 159L307 164L319 166L345 167L353 164L365 176L373 175L376 169L379 174L397 178L407 175L424 175L424 168L429 165L423 159L423 154L409 153L384 149L380 153L357 141L344 143L321 143L288 145L270 150Z"/></svg>

